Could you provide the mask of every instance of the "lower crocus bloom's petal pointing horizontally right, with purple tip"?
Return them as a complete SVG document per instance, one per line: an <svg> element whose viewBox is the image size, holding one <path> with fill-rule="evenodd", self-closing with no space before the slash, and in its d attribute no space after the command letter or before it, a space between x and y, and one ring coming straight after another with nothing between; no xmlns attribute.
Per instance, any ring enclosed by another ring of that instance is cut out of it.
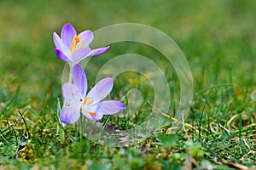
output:
<svg viewBox="0 0 256 170"><path fill-rule="evenodd" d="M99 103L97 114L113 115L125 109L125 105L116 100L102 101Z"/></svg>

